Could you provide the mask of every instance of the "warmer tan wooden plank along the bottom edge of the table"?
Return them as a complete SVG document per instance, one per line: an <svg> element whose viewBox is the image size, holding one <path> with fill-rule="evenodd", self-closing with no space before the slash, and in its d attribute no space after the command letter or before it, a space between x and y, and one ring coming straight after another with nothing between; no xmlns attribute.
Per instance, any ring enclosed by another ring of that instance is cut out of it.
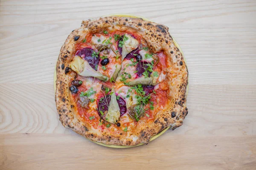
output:
<svg viewBox="0 0 256 170"><path fill-rule="evenodd" d="M134 170L253 170L256 167L253 136L206 138L165 133L148 145L128 149L103 147L75 133L48 134L47 140L45 135L36 133L0 137L2 170L97 170L113 166Z"/></svg>

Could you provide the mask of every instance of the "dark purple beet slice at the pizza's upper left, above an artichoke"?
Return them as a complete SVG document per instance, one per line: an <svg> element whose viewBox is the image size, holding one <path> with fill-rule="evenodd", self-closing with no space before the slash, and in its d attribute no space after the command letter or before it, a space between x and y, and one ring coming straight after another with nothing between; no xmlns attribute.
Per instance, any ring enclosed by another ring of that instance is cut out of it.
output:
<svg viewBox="0 0 256 170"><path fill-rule="evenodd" d="M84 58L94 70L97 70L96 65L99 63L99 54L93 51L92 48L83 48L76 51L75 55Z"/></svg>

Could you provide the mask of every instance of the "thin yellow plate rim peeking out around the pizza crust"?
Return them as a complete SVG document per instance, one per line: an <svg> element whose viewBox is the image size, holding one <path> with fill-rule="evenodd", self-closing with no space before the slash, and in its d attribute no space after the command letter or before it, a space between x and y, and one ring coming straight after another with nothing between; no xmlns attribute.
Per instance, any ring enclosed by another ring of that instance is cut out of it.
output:
<svg viewBox="0 0 256 170"><path fill-rule="evenodd" d="M142 18L142 19L145 20L145 21L153 22L153 21L151 21L151 20L148 20L147 18L140 17L140 16L138 16L138 15L132 15L132 14L110 14L110 15L105 15L105 16L103 16L103 17L109 17L109 16ZM183 52L182 52L182 50L181 50L181 48L180 48L180 45L178 45L178 43L175 41L175 39L174 39L173 37L172 37L172 39L173 39L174 45L175 45L177 48L179 48L180 52L181 52L182 55L184 56L184 54L183 54ZM185 57L184 57L184 60L185 60L185 62L186 62ZM56 91L56 80L57 80L57 74L56 74L56 65L55 65L55 70L54 70L54 91ZM188 93L188 87L189 87L189 85L187 85L186 93ZM163 133L165 133L165 131L168 130L169 128L170 128L170 126L167 127L165 130L163 130L162 132L160 132L159 134L153 136L153 137L150 139L149 142L151 142L151 141L154 140L154 139L157 139L159 136L161 136ZM94 142L94 141L92 141L92 142ZM100 143L100 142L94 142L94 143L100 144L100 145L105 146L105 147L113 147L113 148L128 148L128 147L136 147L136 146L143 145L143 143L141 143L141 144L137 144L137 145L135 145L135 146L118 146L118 145L112 145L112 144L103 144L103 143Z"/></svg>

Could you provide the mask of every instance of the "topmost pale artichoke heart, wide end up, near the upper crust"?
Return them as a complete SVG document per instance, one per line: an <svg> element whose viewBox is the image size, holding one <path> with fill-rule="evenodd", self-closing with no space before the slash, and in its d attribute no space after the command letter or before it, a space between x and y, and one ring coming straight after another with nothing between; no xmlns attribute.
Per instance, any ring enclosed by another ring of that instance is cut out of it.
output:
<svg viewBox="0 0 256 170"><path fill-rule="evenodd" d="M127 37L128 39L123 41L124 45L122 45L122 60L125 59L127 54L138 48L139 45L139 42L130 35L125 34L125 37Z"/></svg>

